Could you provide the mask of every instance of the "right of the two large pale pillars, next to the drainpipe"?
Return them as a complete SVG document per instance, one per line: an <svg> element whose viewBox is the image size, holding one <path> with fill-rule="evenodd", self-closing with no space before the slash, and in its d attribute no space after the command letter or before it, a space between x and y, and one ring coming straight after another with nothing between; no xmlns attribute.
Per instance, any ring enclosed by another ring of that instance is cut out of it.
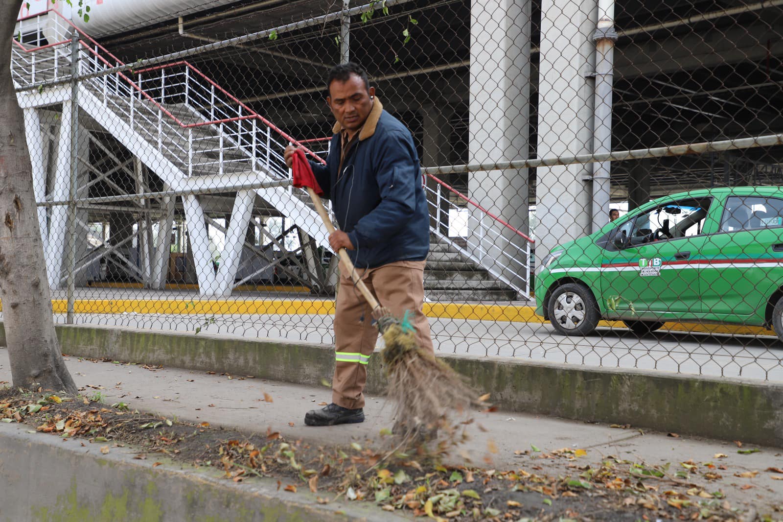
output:
<svg viewBox="0 0 783 522"><path fill-rule="evenodd" d="M596 9L595 0L542 0L539 158L593 150ZM536 259L590 233L591 175L590 165L536 169Z"/></svg>

